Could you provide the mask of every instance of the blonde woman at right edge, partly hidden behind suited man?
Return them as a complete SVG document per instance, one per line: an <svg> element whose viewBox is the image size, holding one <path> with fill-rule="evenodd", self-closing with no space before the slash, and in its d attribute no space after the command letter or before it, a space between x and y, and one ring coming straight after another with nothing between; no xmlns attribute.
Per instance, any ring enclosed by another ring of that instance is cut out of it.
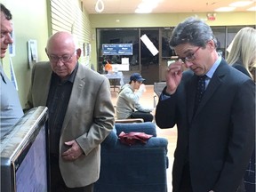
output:
<svg viewBox="0 0 256 192"><path fill-rule="evenodd" d="M230 49L230 47L228 48ZM251 77L256 82L256 29L242 28L232 41L227 62L237 70ZM255 129L255 127L254 127ZM250 163L244 174L244 186L246 192L255 192L255 139L254 150Z"/></svg>

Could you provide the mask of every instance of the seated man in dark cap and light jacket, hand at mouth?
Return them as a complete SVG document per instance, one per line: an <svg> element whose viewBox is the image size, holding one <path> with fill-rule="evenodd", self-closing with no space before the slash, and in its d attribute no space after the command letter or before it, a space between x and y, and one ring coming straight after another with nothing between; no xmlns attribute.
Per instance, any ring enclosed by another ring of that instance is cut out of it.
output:
<svg viewBox="0 0 256 192"><path fill-rule="evenodd" d="M139 73L133 73L130 76L129 84L124 84L118 94L116 101L117 119L142 118L144 122L152 122L153 108L147 108L140 105L140 97L146 92L145 79ZM137 92L136 92L137 90Z"/></svg>

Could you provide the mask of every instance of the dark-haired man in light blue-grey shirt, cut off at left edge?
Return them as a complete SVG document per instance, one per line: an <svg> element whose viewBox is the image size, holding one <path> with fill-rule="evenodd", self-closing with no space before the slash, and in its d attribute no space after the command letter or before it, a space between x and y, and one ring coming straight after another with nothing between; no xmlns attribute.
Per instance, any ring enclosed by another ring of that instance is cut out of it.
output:
<svg viewBox="0 0 256 192"><path fill-rule="evenodd" d="M20 105L18 92L9 78L4 74L2 59L8 51L8 45L13 43L12 40L12 13L4 6L1 6L1 64L0 64L0 130L1 138L12 130L12 126L16 124L20 117L23 116L23 111Z"/></svg>

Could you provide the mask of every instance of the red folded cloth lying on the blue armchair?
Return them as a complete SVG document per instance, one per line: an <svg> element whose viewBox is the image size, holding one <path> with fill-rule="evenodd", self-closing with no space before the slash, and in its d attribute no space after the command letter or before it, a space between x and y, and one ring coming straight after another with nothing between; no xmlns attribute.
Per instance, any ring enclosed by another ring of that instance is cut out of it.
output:
<svg viewBox="0 0 256 192"><path fill-rule="evenodd" d="M142 144L147 143L147 140L151 138L153 135L146 134L145 132L120 132L119 139L125 145L133 145L136 142L140 142Z"/></svg>

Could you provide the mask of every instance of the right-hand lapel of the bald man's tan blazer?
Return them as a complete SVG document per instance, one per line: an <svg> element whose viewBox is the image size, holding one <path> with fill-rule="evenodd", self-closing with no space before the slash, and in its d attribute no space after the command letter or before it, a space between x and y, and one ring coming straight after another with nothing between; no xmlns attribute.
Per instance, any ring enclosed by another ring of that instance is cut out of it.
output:
<svg viewBox="0 0 256 192"><path fill-rule="evenodd" d="M76 107L77 107L77 102L80 99L81 96L81 92L84 88L84 68L82 65L78 64L78 68L77 68L77 72L76 72L76 77L75 77L75 81L73 84L73 88L72 88L72 92L70 95L70 99L68 102L68 108L67 108L67 112L64 118L64 122L62 125L62 129L65 129L65 127L68 124L68 121L70 119L71 116L74 116L76 114Z"/></svg>

